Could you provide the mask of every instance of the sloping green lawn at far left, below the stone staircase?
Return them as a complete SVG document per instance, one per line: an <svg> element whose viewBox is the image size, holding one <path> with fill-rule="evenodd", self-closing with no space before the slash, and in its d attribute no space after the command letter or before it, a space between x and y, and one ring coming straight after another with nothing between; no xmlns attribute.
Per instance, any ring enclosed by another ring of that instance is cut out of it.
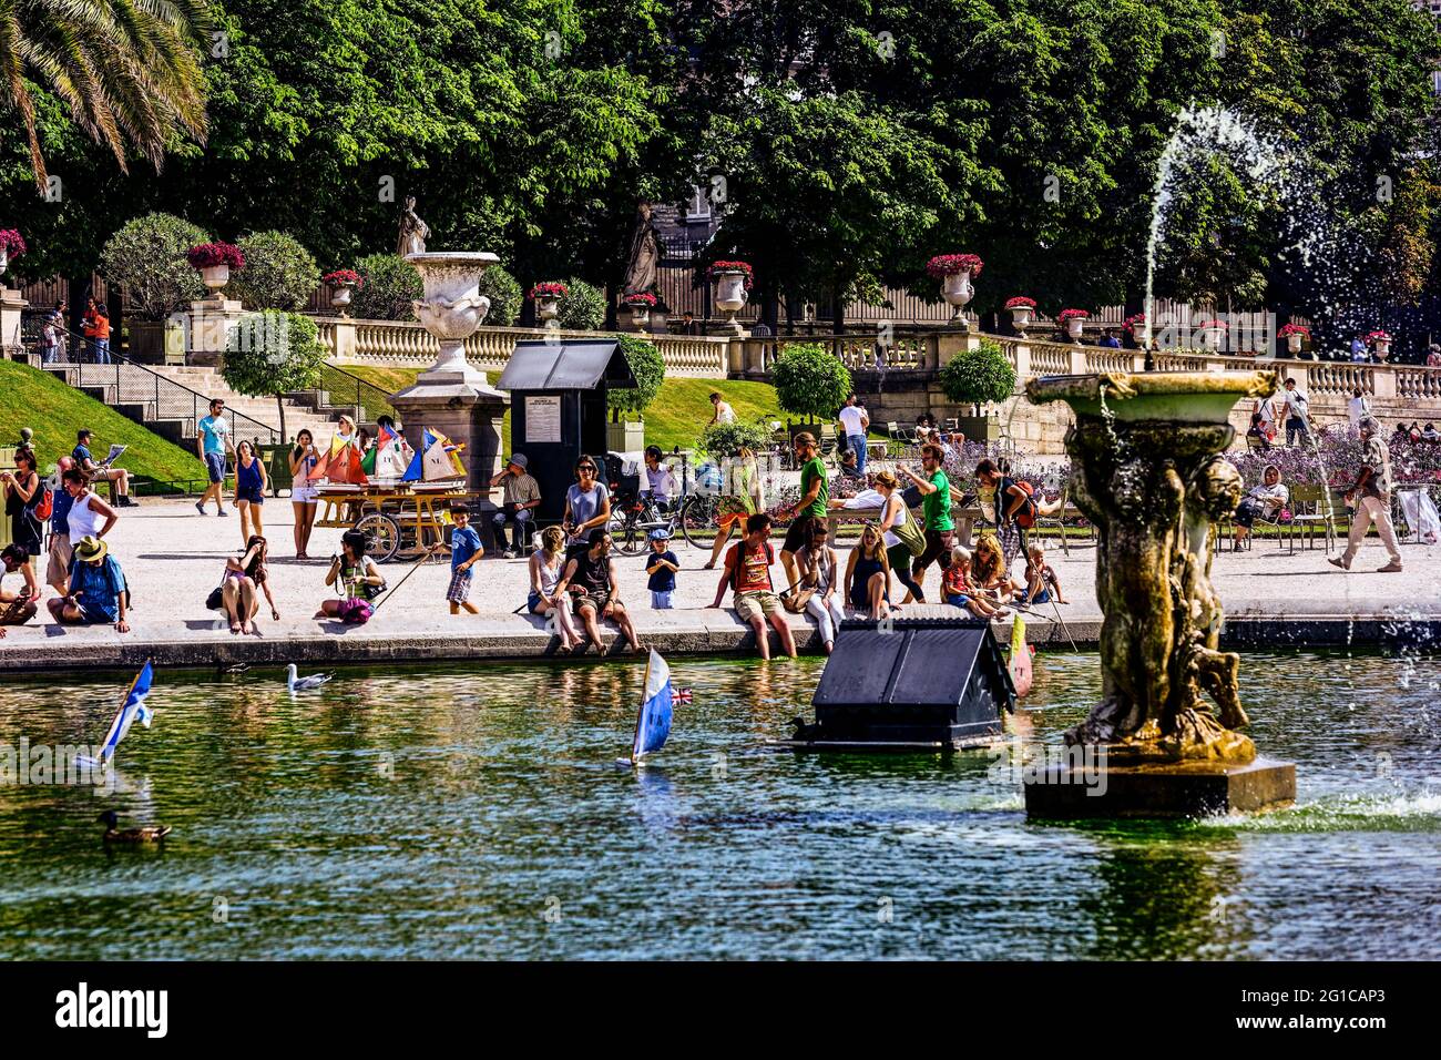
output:
<svg viewBox="0 0 1441 1060"><path fill-rule="evenodd" d="M151 434L53 375L16 361L0 361L0 424L4 424L0 444L7 446L20 440L22 427L35 428L35 454L42 473L71 454L75 431L89 427L95 431L91 450L97 460L105 457L114 441L130 446L120 466L137 476L157 482L206 477L205 464L195 453Z"/></svg>

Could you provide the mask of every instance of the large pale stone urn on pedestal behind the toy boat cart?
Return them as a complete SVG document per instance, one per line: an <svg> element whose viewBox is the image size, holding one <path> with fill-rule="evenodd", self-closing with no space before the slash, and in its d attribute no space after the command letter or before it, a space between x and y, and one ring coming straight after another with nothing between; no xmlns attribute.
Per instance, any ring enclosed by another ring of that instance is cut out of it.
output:
<svg viewBox="0 0 1441 1060"><path fill-rule="evenodd" d="M421 274L425 297L416 299L415 316L441 345L440 358L421 372L414 387L391 398L415 451L424 447L429 427L463 444L467 483L486 490L500 470L500 421L510 398L465 361L465 339L476 333L490 310L480 293L480 274L499 261L478 251L406 254Z"/></svg>

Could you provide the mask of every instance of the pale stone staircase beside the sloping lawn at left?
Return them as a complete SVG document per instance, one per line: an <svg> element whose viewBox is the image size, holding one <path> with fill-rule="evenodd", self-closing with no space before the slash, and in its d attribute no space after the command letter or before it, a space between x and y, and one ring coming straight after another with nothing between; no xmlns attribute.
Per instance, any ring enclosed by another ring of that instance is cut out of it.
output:
<svg viewBox="0 0 1441 1060"><path fill-rule="evenodd" d="M235 440L258 438L262 444L291 441L305 428L316 444L326 446L336 430L340 412L323 394L285 397L285 434L280 434L280 410L275 398L251 398L236 394L215 368L200 365L46 365L46 369L71 387L114 408L128 420L183 449L195 449L196 421L209 415L212 398L225 401L225 415Z"/></svg>

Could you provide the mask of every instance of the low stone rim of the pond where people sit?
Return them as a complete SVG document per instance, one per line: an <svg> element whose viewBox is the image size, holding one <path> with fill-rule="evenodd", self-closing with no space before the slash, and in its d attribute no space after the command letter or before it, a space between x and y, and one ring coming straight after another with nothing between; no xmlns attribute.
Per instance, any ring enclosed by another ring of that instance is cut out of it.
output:
<svg viewBox="0 0 1441 1060"><path fill-rule="evenodd" d="M729 617L729 613L726 613ZM147 637L141 630L120 636L107 630L85 630L84 637L55 637L42 643L0 640L0 672L24 673L49 669L134 669L146 659L160 666L213 668L233 663L416 663L464 662L470 659L523 661L571 656L556 655L552 639L529 624L523 630L507 630L500 623L473 633L452 632L395 632L376 629L347 629L344 632L301 633L272 637L231 637L200 635L189 639ZM791 626L803 652L820 653L816 627L793 617ZM1071 642L1081 649L1094 649L1099 636L1098 617L1068 620L1065 627L1032 617L1029 640L1046 649L1069 649ZM725 655L754 653L755 640L749 630L731 617L670 617L663 627L638 630L643 646L654 646L663 655ZM1009 623L997 623L997 635L1009 640ZM1068 636L1069 635L1069 636ZM614 645L608 639L607 645ZM771 636L772 653L778 652ZM1259 648L1415 648L1431 649L1441 645L1441 619L1398 619L1349 616L1239 616L1229 619L1222 633L1222 646L1231 649ZM598 656L589 652L581 662ZM635 653L610 653L607 661L635 661Z"/></svg>

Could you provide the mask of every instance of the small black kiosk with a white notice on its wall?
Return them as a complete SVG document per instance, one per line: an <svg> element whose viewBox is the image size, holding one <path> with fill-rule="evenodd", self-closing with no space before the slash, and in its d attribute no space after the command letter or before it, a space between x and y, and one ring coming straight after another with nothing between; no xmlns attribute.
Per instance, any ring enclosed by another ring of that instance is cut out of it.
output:
<svg viewBox="0 0 1441 1060"><path fill-rule="evenodd" d="M510 451L526 454L540 486L537 521L561 521L582 453L605 467L605 391L634 385L615 339L516 343L496 387L510 391Z"/></svg>

